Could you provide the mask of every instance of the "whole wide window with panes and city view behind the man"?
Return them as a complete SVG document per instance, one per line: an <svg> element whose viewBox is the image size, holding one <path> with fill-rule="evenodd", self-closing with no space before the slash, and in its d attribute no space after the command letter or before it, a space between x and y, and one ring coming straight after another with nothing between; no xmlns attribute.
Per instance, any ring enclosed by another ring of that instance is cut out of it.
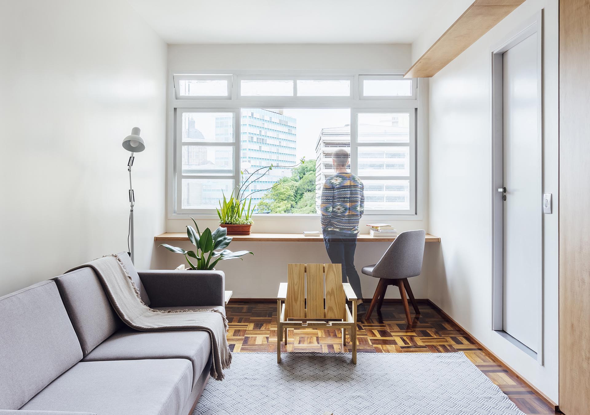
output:
<svg viewBox="0 0 590 415"><path fill-rule="evenodd" d="M173 80L172 214L215 214L240 185L256 215L319 214L338 148L350 152L349 171L365 185L365 215L417 213L415 79L237 73Z"/></svg>

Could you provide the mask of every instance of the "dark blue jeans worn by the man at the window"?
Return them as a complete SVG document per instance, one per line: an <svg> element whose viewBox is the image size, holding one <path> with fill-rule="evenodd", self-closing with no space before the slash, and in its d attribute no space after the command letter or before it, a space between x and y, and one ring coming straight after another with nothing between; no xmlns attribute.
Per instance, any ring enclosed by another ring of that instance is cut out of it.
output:
<svg viewBox="0 0 590 415"><path fill-rule="evenodd" d="M363 298L360 277L355 269L356 234L324 231L324 244L333 264L342 264L342 282L350 283L356 297Z"/></svg>

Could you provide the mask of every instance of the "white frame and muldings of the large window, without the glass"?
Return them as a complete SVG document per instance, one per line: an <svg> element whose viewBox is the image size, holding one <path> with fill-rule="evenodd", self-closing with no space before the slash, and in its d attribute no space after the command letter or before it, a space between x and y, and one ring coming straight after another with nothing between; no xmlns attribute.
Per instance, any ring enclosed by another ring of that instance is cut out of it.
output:
<svg viewBox="0 0 590 415"><path fill-rule="evenodd" d="M414 99L412 97L372 97L371 99L362 99L360 96L360 87L362 79L369 76L367 73L372 73L375 76L389 76L394 79L401 79L403 71L385 71L385 70L371 70L371 71L277 71L277 70L237 70L227 71L231 75L231 93L230 99L227 97L182 97L176 98L175 90L169 94L168 107L168 179L167 179L167 211L169 219L185 219L188 215L201 219L216 219L217 212L215 209L207 210L191 210L182 209L182 134L181 131L182 112L232 112L234 113L234 141L228 143L219 142L202 142L201 145L230 145L234 146L234 175L209 176L199 175L191 176L193 178L231 178L234 179L235 188L240 184L240 159L241 159L241 110L245 108L318 108L318 109L334 109L347 108L350 109L350 151L351 154L355 151L355 156L351 157L351 172L358 171L358 164L356 155L358 155L358 146L365 146L366 144L375 146L388 146L391 143L358 143L358 113L361 112L410 112L410 143L411 146L411 179L410 179L410 208L407 211L400 210L371 210L365 212L363 217L371 220L423 220L423 211L426 208L425 185L427 185L427 153L424 150L422 142L427 143L427 136L424 135L425 116L427 116L427 90L424 94L418 93L419 84L425 84L422 79L412 79L414 89ZM176 87L176 77L179 71L169 71L169 79L171 88ZM211 79L219 75L210 76L208 74L215 73L215 71L183 71L182 77L195 76L198 79ZM191 74L187 74L191 73ZM219 73L219 72L217 72ZM392 75L394 73L394 75ZM181 78L179 78L181 79ZM293 96L240 96L240 80L249 79L289 79L293 80ZM297 96L297 80L350 80L350 96ZM228 86L230 83L228 83ZM427 84L425 84L427 86ZM374 98L374 99L373 99ZM180 116L178 116L180 114ZM195 145L194 142L190 143ZM406 146L408 143L404 143ZM400 145L400 144L398 144ZM412 155L413 151L413 155ZM354 161L353 161L354 160ZM355 169L353 170L353 163ZM186 177L185 177L186 178ZM379 179L381 177L365 177L369 179ZM396 179L396 177L383 177L385 179ZM418 183L424 181L424 183ZM178 195L178 197L177 197ZM280 220L281 217L294 218L313 218L319 217L319 214L256 214L255 220L261 218L274 218Z"/></svg>

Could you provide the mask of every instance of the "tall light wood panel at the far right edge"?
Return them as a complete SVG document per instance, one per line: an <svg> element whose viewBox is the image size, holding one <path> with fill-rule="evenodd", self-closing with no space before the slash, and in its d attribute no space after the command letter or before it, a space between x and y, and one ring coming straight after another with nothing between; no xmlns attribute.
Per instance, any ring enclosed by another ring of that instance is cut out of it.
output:
<svg viewBox="0 0 590 415"><path fill-rule="evenodd" d="M590 0L559 2L559 408L590 408Z"/></svg>

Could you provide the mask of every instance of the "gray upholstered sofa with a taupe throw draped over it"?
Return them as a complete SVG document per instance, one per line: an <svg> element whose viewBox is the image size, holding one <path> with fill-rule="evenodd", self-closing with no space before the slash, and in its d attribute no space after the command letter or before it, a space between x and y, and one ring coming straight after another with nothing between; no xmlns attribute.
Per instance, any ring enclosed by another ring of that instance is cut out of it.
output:
<svg viewBox="0 0 590 415"><path fill-rule="evenodd" d="M156 309L224 308L224 273L136 272ZM139 332L79 269L0 297L0 415L186 415L211 367L203 331Z"/></svg>

